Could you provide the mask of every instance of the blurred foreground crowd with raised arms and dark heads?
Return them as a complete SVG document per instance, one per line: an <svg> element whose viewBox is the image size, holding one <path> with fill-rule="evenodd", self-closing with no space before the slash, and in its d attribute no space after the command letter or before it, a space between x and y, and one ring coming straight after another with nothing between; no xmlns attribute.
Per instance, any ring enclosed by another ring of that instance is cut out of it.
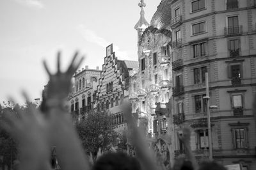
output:
<svg viewBox="0 0 256 170"><path fill-rule="evenodd" d="M72 123L70 114L65 109L65 100L72 86L72 75L76 72L83 57L79 57L76 52L68 66L66 72L61 72L61 53L57 55L57 72L51 73L44 61L45 71L49 75L49 86L47 94L43 98L42 106L36 109L29 104L26 111L10 110L4 111L4 120L1 128L6 130L19 144L20 163L17 169L35 170L52 169L51 151L52 146L56 146L56 157L61 169L93 169L93 170L206 170L225 169L224 166L212 160L207 160L198 164L190 147L191 130L183 129L180 140L184 144L185 156L178 158L173 165L166 167L157 164L152 151L147 147L147 142L143 137L141 128L137 127L136 121L131 114L131 105L124 104L123 111L125 120L132 133L132 145L135 156L131 157L127 153L112 151L102 153L99 150L97 160L94 162L92 155L86 155L81 146L81 141L77 135L76 128ZM29 101L28 95L22 93L25 100ZM56 164L54 160L53 164Z"/></svg>

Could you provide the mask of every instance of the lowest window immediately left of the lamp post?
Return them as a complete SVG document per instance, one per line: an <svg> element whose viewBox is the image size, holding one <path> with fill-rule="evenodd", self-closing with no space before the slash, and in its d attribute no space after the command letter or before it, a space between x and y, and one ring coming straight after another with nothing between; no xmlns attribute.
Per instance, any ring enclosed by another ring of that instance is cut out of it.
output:
<svg viewBox="0 0 256 170"><path fill-rule="evenodd" d="M208 138L208 130L207 129L200 129L196 130L197 135L197 149L198 150L205 150L209 149L209 138Z"/></svg>

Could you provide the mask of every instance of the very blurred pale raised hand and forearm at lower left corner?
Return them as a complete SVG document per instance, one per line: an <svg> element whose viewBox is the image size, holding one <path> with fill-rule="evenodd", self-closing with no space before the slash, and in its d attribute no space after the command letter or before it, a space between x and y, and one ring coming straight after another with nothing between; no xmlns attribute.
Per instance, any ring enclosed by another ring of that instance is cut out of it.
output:
<svg viewBox="0 0 256 170"><path fill-rule="evenodd" d="M27 101L28 98L26 97ZM47 121L33 105L25 110L15 109L3 113L1 127L19 144L20 169L50 169L51 148Z"/></svg>

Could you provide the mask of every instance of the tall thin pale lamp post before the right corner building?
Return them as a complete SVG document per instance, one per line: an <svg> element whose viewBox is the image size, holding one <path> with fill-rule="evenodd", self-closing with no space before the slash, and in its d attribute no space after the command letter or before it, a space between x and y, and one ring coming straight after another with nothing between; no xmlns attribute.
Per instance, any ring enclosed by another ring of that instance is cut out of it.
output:
<svg viewBox="0 0 256 170"><path fill-rule="evenodd" d="M208 73L205 73L205 89L206 89L206 97L204 99L207 100L207 127L208 127L208 137L209 137L209 159L212 160L212 131L211 131L211 116L210 116L210 97L209 97L209 79Z"/></svg>

